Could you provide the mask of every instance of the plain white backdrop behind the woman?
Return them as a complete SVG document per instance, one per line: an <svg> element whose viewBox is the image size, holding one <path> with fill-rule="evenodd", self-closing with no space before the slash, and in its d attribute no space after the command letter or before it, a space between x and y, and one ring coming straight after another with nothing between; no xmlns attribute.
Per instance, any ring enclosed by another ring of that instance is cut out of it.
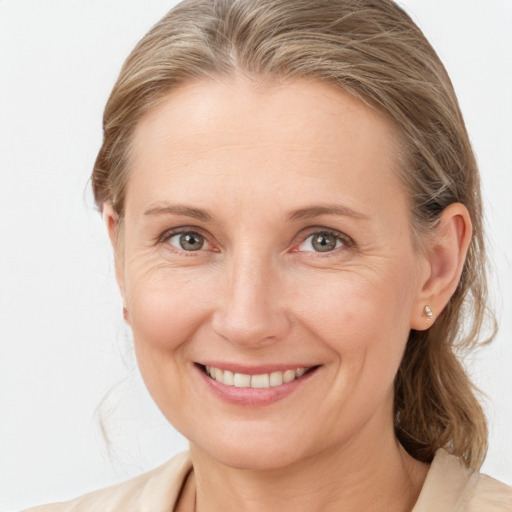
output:
<svg viewBox="0 0 512 512"><path fill-rule="evenodd" d="M138 376L89 190L122 61L174 3L0 0L2 512L70 499L186 448ZM512 1L402 5L448 68L481 167L500 332L468 365L488 395L483 470L510 484Z"/></svg>

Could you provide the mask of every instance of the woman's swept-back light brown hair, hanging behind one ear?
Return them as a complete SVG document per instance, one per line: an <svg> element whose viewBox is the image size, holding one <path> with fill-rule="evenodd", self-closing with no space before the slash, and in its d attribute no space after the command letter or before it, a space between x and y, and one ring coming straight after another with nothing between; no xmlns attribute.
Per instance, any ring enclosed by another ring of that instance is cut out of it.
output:
<svg viewBox="0 0 512 512"><path fill-rule="evenodd" d="M332 84L398 128L400 177L416 235L464 204L473 237L457 289L435 323L412 330L395 379L399 441L429 462L438 448L477 469L487 426L461 357L480 343L487 317L479 174L448 74L411 18L391 0L185 0L138 43L105 108L92 175L100 208L120 218L134 127L170 92L201 78L243 73L263 81Z"/></svg>

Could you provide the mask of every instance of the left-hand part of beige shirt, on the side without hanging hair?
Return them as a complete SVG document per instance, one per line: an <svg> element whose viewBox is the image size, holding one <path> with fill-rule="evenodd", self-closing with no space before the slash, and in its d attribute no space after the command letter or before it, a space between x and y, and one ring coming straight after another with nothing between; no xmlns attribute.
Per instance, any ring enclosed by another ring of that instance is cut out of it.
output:
<svg viewBox="0 0 512 512"><path fill-rule="evenodd" d="M191 468L188 452L180 453L162 466L126 482L73 501L42 505L25 512L168 512L173 509Z"/></svg>

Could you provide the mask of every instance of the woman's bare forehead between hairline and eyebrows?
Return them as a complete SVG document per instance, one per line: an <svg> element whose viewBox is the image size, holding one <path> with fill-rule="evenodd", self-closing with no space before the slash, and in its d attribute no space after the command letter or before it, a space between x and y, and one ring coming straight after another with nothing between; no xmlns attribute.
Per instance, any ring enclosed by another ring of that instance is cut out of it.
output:
<svg viewBox="0 0 512 512"><path fill-rule="evenodd" d="M252 200L258 191L282 198L286 188L326 201L343 193L371 207L372 195L396 193L399 153L391 122L329 84L201 80L171 92L139 121L127 203L165 200L159 196L193 186L198 198L233 187Z"/></svg>

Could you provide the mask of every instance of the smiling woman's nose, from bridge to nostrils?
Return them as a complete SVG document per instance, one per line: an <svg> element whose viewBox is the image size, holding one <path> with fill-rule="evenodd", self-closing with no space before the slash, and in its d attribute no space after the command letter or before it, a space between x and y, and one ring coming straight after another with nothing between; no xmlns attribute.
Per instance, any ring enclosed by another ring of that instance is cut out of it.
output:
<svg viewBox="0 0 512 512"><path fill-rule="evenodd" d="M254 254L232 263L223 269L212 319L215 333L245 347L260 347L286 337L291 321L278 269Z"/></svg>

